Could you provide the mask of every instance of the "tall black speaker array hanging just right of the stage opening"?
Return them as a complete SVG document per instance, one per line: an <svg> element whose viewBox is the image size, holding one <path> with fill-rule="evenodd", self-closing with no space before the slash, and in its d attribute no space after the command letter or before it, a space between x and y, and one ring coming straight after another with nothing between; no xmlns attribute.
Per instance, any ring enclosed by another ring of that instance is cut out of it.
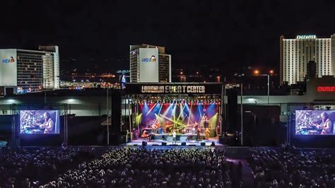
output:
<svg viewBox="0 0 335 188"><path fill-rule="evenodd" d="M227 128L226 131L235 131L237 129L237 90L227 90L228 107L227 107Z"/></svg>

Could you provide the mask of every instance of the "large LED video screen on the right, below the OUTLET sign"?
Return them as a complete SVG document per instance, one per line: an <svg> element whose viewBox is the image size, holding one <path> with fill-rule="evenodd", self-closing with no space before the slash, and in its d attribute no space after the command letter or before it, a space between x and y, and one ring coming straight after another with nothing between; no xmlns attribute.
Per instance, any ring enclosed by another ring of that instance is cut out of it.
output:
<svg viewBox="0 0 335 188"><path fill-rule="evenodd" d="M295 110L295 134L335 135L335 110Z"/></svg>

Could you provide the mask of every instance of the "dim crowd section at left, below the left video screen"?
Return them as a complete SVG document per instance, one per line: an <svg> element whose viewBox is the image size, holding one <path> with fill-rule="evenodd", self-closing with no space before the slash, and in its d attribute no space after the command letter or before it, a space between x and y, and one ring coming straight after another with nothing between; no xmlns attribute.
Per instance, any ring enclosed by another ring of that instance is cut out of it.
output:
<svg viewBox="0 0 335 188"><path fill-rule="evenodd" d="M2 148L0 187L39 187L93 157L91 148Z"/></svg>

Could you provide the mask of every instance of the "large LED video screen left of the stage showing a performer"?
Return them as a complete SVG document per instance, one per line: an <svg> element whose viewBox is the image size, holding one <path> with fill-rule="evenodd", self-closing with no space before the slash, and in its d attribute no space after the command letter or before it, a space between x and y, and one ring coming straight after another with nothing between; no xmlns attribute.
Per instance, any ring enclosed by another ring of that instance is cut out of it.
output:
<svg viewBox="0 0 335 188"><path fill-rule="evenodd" d="M20 110L20 134L59 134L59 111Z"/></svg>

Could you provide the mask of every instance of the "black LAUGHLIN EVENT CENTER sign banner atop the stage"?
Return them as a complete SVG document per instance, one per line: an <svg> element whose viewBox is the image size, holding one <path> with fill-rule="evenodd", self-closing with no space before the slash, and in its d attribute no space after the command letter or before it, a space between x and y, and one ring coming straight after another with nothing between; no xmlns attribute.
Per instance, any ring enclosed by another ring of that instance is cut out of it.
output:
<svg viewBox="0 0 335 188"><path fill-rule="evenodd" d="M127 83L128 94L221 94L221 83Z"/></svg>

